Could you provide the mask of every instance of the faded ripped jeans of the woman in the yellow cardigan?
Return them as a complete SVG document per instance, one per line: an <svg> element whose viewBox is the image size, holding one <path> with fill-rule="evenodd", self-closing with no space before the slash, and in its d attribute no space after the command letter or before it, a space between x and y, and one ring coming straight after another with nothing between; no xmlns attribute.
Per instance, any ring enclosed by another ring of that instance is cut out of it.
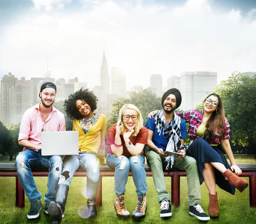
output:
<svg viewBox="0 0 256 224"><path fill-rule="evenodd" d="M100 179L99 163L96 155L91 152L79 151L78 155L65 156L58 184L64 183L70 186L70 182L79 166L87 171L86 195L88 198L95 198Z"/></svg>

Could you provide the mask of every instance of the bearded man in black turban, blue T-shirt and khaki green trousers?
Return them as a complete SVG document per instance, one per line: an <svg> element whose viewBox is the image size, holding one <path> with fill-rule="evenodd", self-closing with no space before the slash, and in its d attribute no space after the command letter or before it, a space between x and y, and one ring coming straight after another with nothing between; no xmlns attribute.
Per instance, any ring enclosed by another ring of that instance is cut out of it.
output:
<svg viewBox="0 0 256 224"><path fill-rule="evenodd" d="M155 189L160 203L160 217L172 216L170 195L166 191L163 169L178 168L187 173L189 213L199 220L209 220L209 216L200 205L201 189L196 160L186 154L186 123L174 112L181 104L180 91L172 88L162 97L163 109L154 118L148 119L147 163L151 167ZM170 152L183 155L170 156Z"/></svg>

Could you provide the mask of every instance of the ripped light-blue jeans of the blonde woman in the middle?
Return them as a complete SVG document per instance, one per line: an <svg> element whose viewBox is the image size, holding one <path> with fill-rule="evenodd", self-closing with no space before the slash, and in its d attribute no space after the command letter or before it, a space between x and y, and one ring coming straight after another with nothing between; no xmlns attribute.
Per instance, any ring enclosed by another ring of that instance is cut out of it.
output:
<svg viewBox="0 0 256 224"><path fill-rule="evenodd" d="M116 157L114 154L108 153L107 164L109 167L115 169L114 190L117 195L124 194L130 169L137 195L144 196L146 194L148 187L146 183L144 163L145 157L143 154L140 154L139 156Z"/></svg>

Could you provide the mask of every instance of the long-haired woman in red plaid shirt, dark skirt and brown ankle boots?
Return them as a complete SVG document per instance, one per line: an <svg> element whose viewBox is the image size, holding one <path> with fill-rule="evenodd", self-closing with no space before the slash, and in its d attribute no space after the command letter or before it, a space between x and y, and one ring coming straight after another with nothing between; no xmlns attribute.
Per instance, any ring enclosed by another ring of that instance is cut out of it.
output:
<svg viewBox="0 0 256 224"><path fill-rule="evenodd" d="M151 117L157 111L151 112ZM177 113L189 123L190 145L186 154L197 161L200 184L205 182L209 190L208 212L211 217L218 217L218 195L216 184L225 191L235 194L235 187L240 191L248 186L246 180L238 177L241 169L236 165L229 143L230 125L225 118L224 105L218 94L212 93L204 100L204 109ZM229 166L220 145L227 154Z"/></svg>

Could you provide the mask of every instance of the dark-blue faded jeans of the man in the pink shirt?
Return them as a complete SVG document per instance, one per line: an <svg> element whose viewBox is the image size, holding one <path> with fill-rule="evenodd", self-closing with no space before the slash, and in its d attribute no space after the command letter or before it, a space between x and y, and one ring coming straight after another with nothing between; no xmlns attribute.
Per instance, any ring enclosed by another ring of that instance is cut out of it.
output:
<svg viewBox="0 0 256 224"><path fill-rule="evenodd" d="M40 198L42 198L41 193L39 193L37 190L31 168L49 168L49 177L47 183L48 191L44 195L44 204L48 205L50 201L53 201L55 196L55 187L58 184L58 178L62 170L62 159L60 156L42 156L41 150L21 151L16 157L15 166L20 178L21 186L29 198L29 202L33 200L39 201Z"/></svg>

